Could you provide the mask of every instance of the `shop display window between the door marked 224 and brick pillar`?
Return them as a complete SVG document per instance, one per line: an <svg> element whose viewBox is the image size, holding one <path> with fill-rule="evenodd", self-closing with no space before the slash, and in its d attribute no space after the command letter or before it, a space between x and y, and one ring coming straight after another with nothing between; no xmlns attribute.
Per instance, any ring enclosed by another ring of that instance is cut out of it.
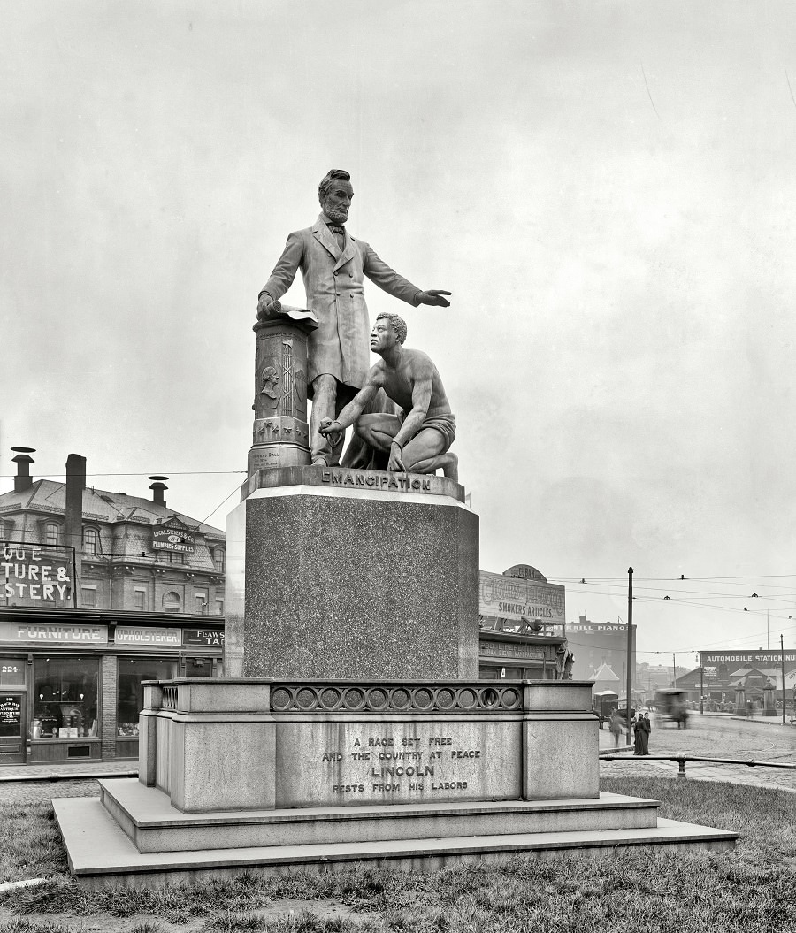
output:
<svg viewBox="0 0 796 933"><path fill-rule="evenodd" d="M97 734L97 658L36 658L32 739Z"/></svg>

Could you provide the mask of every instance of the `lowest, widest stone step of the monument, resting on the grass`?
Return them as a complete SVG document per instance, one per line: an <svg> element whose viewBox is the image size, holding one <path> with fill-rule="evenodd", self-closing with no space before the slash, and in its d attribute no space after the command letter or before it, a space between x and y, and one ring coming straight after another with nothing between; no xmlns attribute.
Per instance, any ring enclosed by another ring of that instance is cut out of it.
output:
<svg viewBox="0 0 796 933"><path fill-rule="evenodd" d="M690 823L659 819L657 827L590 829L446 839L388 842L327 842L312 845L253 846L193 852L142 853L119 829L99 798L52 801L69 853L69 867L80 884L157 886L198 884L248 874L278 874L291 869L340 870L354 864L398 869L435 869L472 861L500 862L517 853L547 856L579 850L600 855L627 846L670 849L732 848L736 834Z"/></svg>

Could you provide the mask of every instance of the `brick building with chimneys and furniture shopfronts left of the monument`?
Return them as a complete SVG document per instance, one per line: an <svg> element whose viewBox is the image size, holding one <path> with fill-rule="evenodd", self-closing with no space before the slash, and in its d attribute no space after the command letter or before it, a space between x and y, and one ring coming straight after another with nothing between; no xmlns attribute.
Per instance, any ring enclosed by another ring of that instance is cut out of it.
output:
<svg viewBox="0 0 796 933"><path fill-rule="evenodd" d="M152 499L35 480L0 495L0 763L135 758L141 681L222 673L225 537Z"/></svg>

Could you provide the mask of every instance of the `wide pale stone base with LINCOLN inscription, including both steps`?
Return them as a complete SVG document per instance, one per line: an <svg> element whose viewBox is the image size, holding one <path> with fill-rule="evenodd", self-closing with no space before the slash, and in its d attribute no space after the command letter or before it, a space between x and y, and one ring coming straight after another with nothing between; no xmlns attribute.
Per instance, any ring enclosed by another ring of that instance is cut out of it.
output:
<svg viewBox="0 0 796 933"><path fill-rule="evenodd" d="M183 678L146 703L139 779L53 801L82 884L735 839L600 794L589 683Z"/></svg>

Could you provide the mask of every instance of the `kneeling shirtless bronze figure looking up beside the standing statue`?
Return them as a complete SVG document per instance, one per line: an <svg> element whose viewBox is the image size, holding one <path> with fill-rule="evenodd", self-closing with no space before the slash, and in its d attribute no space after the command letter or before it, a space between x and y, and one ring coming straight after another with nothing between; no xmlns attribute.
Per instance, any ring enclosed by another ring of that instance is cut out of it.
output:
<svg viewBox="0 0 796 933"><path fill-rule="evenodd" d="M434 473L458 480L458 458L448 453L456 426L437 367L422 350L404 347L406 322L398 314L379 314L370 333L370 350L382 358L370 369L365 384L332 421L324 418L319 433L336 435L349 425L356 434L389 453L391 472ZM363 414L379 389L384 389L401 414Z"/></svg>

